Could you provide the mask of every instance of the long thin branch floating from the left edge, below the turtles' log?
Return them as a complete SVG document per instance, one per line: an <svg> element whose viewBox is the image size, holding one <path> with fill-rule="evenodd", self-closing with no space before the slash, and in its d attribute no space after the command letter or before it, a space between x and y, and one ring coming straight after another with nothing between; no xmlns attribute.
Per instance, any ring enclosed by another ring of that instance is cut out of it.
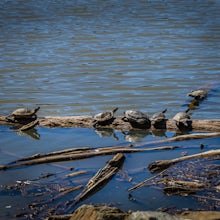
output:
<svg viewBox="0 0 220 220"><path fill-rule="evenodd" d="M67 160L79 160L100 155L110 155L116 153L132 153L132 152L142 152L142 151L152 151L152 150L172 150L177 148L176 146L162 146L153 148L131 148L131 147L106 147L106 148L77 148L65 149L63 151L55 151L47 154L35 154L33 156L22 158L13 161L7 165L1 165L0 170L6 170L9 168L16 168L21 166L42 164L42 163L52 163L58 161ZM65 153L66 152L66 153Z"/></svg>

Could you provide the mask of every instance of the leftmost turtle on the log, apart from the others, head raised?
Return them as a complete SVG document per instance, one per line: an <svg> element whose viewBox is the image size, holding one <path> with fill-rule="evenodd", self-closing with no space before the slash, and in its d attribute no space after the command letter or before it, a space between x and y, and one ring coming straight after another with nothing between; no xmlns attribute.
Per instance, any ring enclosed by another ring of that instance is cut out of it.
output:
<svg viewBox="0 0 220 220"><path fill-rule="evenodd" d="M9 116L6 117L9 121L19 121L19 120L28 120L28 119L36 119L37 118L37 111L40 107L36 107L35 109L30 108L18 108L13 111Z"/></svg>

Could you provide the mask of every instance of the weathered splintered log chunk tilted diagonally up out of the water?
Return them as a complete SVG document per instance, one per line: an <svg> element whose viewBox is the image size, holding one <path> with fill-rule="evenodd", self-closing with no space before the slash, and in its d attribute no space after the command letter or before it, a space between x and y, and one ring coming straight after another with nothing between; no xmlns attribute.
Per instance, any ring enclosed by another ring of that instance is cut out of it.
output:
<svg viewBox="0 0 220 220"><path fill-rule="evenodd" d="M94 177L87 183L85 189L74 198L74 205L84 200L89 195L100 190L122 167L125 156L122 153L116 154L112 160L108 161L106 166L100 169Z"/></svg>

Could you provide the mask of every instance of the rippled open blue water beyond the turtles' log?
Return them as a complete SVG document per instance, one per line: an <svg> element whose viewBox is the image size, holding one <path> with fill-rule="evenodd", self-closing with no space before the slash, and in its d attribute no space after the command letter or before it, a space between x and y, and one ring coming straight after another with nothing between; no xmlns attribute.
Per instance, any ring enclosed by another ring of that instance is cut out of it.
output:
<svg viewBox="0 0 220 220"><path fill-rule="evenodd" d="M218 1L2 1L1 114L118 106L173 116L192 89L211 97L196 118L219 117ZM184 107L185 108L185 107Z"/></svg>

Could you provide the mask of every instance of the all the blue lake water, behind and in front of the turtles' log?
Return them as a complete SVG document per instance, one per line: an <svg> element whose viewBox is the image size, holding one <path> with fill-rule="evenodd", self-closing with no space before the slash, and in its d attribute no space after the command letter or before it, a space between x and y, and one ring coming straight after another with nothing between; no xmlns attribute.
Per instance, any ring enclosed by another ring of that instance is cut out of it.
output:
<svg viewBox="0 0 220 220"><path fill-rule="evenodd" d="M0 115L21 106L39 105L39 116L90 115L117 106L118 115L126 109L152 115L167 108L170 118L187 108L191 101L186 96L188 92L202 87L210 92L192 112L192 118L220 118L218 0L2 0L0 8ZM136 141L175 134L141 135ZM37 139L0 127L1 164L37 152L74 146L114 146L130 141L130 137L117 131L115 135L100 137L92 129L81 128L37 128L34 137ZM199 143L192 141L189 153L198 152ZM219 139L209 139L204 144L215 149ZM181 152L182 149L172 154L154 152L150 160L146 153L127 155L124 170L132 173L130 169L146 167L148 162L161 159L161 154L164 159L180 156ZM73 164L76 169L94 174L110 158L68 162L64 166ZM0 172L0 184L36 178L48 170L58 172L49 165ZM149 175L140 172L135 181ZM155 198L154 202L140 198L142 203L134 204L125 193L130 184L119 184L117 178L86 203L115 202L125 210L155 210L177 201L182 207L189 203L198 208L201 205L189 198L167 198L157 190L146 193L146 198ZM111 188L116 190L114 201ZM21 195L1 194L2 218L17 212L10 206L19 209L31 200L24 196L20 202Z"/></svg>

